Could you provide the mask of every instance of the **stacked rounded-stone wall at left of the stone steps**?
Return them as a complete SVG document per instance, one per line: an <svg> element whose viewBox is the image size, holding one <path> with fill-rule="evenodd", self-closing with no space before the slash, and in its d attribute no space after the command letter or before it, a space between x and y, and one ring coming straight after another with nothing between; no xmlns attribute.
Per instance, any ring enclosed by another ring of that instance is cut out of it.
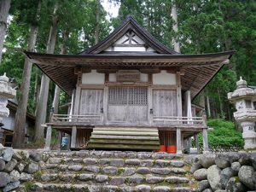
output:
<svg viewBox="0 0 256 192"><path fill-rule="evenodd" d="M20 183L32 181L42 166L41 153L3 148L0 144L0 191L12 191Z"/></svg>

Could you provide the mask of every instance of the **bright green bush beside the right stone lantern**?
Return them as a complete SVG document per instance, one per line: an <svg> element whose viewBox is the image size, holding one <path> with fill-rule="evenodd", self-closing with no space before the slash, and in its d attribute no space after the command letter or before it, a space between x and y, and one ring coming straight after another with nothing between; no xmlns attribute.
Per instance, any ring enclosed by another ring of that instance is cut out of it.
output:
<svg viewBox="0 0 256 192"><path fill-rule="evenodd" d="M209 147L234 145L243 147L241 132L236 130L234 123L224 119L210 119L207 121L207 125L213 128L213 131L208 131ZM199 143L202 145L201 135Z"/></svg>

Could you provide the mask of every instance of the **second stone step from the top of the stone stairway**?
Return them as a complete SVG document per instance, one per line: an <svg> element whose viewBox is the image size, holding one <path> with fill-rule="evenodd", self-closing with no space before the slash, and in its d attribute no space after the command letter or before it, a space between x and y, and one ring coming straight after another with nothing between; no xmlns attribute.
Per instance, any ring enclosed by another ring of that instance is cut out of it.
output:
<svg viewBox="0 0 256 192"><path fill-rule="evenodd" d="M147 166L147 167L183 167L183 160L140 160L140 159L96 159L96 158L60 158L47 160L47 166Z"/></svg>

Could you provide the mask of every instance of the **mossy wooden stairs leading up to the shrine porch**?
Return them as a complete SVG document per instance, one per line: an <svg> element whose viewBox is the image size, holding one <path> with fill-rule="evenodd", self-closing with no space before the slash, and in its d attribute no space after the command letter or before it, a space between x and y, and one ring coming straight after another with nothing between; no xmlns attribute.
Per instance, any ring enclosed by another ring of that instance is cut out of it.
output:
<svg viewBox="0 0 256 192"><path fill-rule="evenodd" d="M158 150L158 129L130 127L96 127L93 129L88 148Z"/></svg>

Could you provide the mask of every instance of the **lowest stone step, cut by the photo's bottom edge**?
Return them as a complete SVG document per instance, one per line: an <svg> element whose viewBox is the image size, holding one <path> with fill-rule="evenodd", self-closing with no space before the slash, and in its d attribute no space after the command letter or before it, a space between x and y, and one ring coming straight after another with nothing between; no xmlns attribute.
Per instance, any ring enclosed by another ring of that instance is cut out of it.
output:
<svg viewBox="0 0 256 192"><path fill-rule="evenodd" d="M147 185L137 186L115 186L115 185L90 185L90 184L63 184L63 183L32 183L29 186L22 186L21 189L36 192L58 191L58 192L191 192L194 189L189 187L169 187L166 185ZM29 189L27 189L29 188Z"/></svg>

